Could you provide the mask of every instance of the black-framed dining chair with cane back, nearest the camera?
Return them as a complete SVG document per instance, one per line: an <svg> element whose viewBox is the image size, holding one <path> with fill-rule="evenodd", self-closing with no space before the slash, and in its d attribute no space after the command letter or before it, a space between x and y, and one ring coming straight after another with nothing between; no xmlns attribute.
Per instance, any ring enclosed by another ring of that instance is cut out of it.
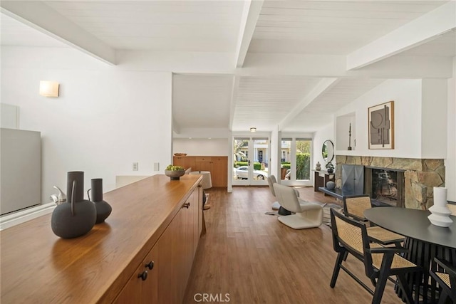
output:
<svg viewBox="0 0 456 304"><path fill-rule="evenodd" d="M381 302L388 279L397 284L403 291L407 303L413 303L412 290L408 287L405 274L423 271L423 269L400 256L400 254L408 252L407 248L402 246L384 247L378 243L371 243L366 224L351 219L334 209L331 209L331 227L333 248L338 253L331 278L331 288L336 286L338 273L342 269L368 293L373 295L373 304ZM346 253L350 253L363 262L366 276L375 286L374 290L343 265L343 258ZM396 276L397 280L389 278L390 276Z"/></svg>

